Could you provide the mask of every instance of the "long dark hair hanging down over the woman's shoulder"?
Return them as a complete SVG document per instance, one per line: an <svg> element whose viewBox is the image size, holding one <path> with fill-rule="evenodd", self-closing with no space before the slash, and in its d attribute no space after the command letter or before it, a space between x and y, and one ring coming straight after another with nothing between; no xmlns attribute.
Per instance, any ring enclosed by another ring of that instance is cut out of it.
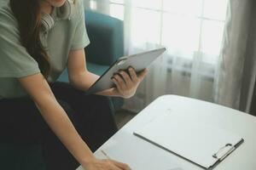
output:
<svg viewBox="0 0 256 170"><path fill-rule="evenodd" d="M10 0L10 7L18 21L20 42L28 54L38 62L45 78L49 76L49 55L40 41L41 0Z"/></svg>

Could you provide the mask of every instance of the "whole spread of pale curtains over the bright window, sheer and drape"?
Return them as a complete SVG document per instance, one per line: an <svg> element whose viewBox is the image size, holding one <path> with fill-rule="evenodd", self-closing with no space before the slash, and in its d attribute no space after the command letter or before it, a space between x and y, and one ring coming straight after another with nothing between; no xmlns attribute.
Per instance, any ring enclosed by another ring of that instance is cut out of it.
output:
<svg viewBox="0 0 256 170"><path fill-rule="evenodd" d="M85 0L87 8L124 20L125 54L167 48L124 108L141 111L164 94L236 107L248 1Z"/></svg>

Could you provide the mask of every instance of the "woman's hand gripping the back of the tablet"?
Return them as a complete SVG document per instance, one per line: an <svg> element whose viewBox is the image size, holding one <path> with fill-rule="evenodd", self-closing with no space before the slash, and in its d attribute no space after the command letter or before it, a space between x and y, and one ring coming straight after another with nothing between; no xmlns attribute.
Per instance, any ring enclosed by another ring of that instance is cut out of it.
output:
<svg viewBox="0 0 256 170"><path fill-rule="evenodd" d="M138 85L143 81L143 78L146 77L148 70L145 69L140 72L138 75L136 71L129 67L128 73L125 71L119 71L118 74L113 75L112 81L116 85L116 93L125 98L131 98L137 91Z"/></svg>

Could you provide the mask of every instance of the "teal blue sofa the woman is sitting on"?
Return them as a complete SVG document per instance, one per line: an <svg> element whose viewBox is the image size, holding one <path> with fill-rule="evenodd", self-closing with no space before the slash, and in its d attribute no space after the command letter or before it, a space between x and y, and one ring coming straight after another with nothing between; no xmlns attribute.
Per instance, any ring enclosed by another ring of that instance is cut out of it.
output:
<svg viewBox="0 0 256 170"><path fill-rule="evenodd" d="M123 22L94 11L86 11L85 18L90 37L86 48L87 67L102 75L115 59L124 55ZM67 70L58 81L68 82ZM123 99L111 98L111 101L115 111L123 105ZM45 170L40 145L0 144L0 169Z"/></svg>

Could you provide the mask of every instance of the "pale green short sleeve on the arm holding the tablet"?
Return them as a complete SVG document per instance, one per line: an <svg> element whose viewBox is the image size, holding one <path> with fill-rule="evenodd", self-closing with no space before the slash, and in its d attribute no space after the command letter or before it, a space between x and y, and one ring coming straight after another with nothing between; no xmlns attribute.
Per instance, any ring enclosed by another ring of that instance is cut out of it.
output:
<svg viewBox="0 0 256 170"><path fill-rule="evenodd" d="M90 44L90 39L87 35L87 31L85 28L85 20L84 20L84 5L79 1L77 4L79 7L79 17L77 26L73 35L73 42L71 45L71 50L85 48Z"/></svg>

